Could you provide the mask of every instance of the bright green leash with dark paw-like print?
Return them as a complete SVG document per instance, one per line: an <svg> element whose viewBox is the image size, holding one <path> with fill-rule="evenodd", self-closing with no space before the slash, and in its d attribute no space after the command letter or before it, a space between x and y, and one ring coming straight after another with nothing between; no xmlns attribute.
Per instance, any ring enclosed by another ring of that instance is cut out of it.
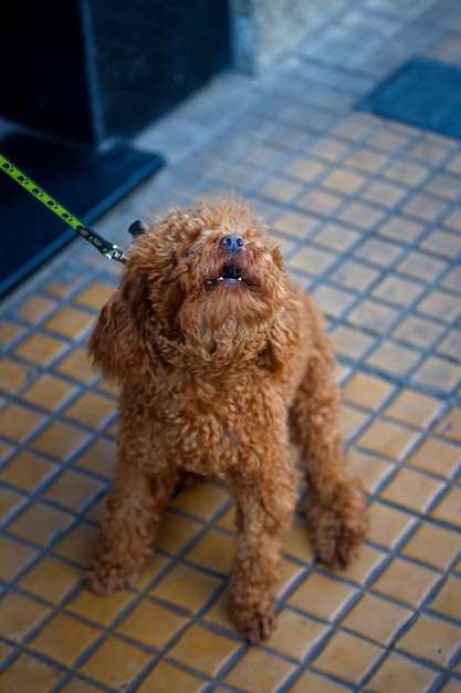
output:
<svg viewBox="0 0 461 693"><path fill-rule="evenodd" d="M42 205L44 205L50 211L53 211L60 219L69 224L82 238L92 244L99 252L102 252L109 260L117 260L118 262L126 262L126 257L117 246L107 242L102 236L96 234L88 226L83 224L77 217L63 207L59 201L51 197L43 188L40 187L32 178L28 177L18 166L15 166L9 158L0 153L0 169L15 180L24 190L28 190L35 197Z"/></svg>

